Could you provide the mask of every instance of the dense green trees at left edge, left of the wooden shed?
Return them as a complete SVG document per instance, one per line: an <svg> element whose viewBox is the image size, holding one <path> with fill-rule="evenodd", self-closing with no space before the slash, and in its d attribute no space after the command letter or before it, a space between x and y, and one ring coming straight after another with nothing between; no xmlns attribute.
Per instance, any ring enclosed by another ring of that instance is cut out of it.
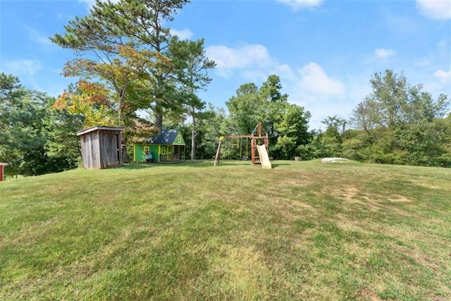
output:
<svg viewBox="0 0 451 301"><path fill-rule="evenodd" d="M55 99L25 90L13 75L0 74L0 161L6 175L36 176L74 168L80 118L52 111Z"/></svg>

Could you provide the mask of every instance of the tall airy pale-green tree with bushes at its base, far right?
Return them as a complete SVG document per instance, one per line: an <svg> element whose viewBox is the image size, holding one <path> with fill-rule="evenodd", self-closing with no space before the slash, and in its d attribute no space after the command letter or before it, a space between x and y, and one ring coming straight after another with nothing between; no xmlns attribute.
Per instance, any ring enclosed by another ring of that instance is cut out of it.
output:
<svg viewBox="0 0 451 301"><path fill-rule="evenodd" d="M352 124L365 135L366 160L390 164L436 165L445 149L442 123L447 96L433 100L422 85L412 86L401 73L386 70L371 77L373 92L353 111ZM355 139L354 137L354 139ZM356 146L359 143L352 143ZM354 153L359 150L354 149ZM364 159L364 158L362 158Z"/></svg>

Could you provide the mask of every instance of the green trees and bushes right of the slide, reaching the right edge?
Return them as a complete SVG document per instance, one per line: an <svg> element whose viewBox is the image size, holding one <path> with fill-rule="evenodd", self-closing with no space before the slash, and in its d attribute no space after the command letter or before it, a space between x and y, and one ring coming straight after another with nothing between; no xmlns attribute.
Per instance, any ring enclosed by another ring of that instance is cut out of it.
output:
<svg viewBox="0 0 451 301"><path fill-rule="evenodd" d="M326 132L317 134L307 157L345 156L358 161L420 166L450 166L450 102L441 94L433 100L422 86L411 86L392 70L375 73L373 92L354 109L350 124L328 117Z"/></svg>

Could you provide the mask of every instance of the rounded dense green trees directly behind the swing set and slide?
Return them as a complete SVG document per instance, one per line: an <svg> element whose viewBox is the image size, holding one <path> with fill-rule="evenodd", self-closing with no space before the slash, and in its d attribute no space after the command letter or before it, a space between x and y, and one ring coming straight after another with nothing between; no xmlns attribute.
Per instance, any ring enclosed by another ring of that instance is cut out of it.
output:
<svg viewBox="0 0 451 301"><path fill-rule="evenodd" d="M254 83L241 85L236 96L226 102L230 130L225 135L249 135L257 123L268 132L271 156L292 159L297 147L309 140L307 124L310 113L302 106L288 103L288 95L280 90L280 79L270 75L257 87Z"/></svg>

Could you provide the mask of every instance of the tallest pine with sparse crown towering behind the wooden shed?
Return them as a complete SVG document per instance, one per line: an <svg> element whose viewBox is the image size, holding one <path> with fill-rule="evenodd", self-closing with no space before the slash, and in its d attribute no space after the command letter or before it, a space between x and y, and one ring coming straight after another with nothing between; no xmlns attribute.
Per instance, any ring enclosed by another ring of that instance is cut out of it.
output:
<svg viewBox="0 0 451 301"><path fill-rule="evenodd" d="M186 4L185 0L121 0L118 3L97 1L88 16L76 17L65 26L65 35L55 35L53 42L75 50L77 59L72 75L85 74L109 82L118 102L119 119L123 109L150 107L161 128L166 108L178 103L174 96L173 63L165 55L171 43L169 29L163 23L173 20ZM127 50L127 51L125 51ZM70 73L68 73L70 75ZM147 90L150 97L127 98L132 89ZM141 102L139 105L136 102ZM135 105L133 105L135 104ZM125 123L125 122L124 122Z"/></svg>

